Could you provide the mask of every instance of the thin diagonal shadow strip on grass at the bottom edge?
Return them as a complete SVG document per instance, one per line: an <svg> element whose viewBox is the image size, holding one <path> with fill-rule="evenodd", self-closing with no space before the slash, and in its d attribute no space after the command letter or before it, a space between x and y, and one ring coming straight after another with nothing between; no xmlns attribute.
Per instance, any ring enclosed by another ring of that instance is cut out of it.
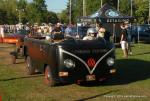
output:
<svg viewBox="0 0 150 101"><path fill-rule="evenodd" d="M108 95L112 92L117 92L117 91L119 91L119 90L112 90L112 91L109 91L109 92L106 92L106 93L98 94L98 95L91 96L91 97L88 97L88 98L82 98L82 99L75 100L75 101L86 101L86 100L94 99L94 98L97 98L97 97L105 96L105 95Z"/></svg>

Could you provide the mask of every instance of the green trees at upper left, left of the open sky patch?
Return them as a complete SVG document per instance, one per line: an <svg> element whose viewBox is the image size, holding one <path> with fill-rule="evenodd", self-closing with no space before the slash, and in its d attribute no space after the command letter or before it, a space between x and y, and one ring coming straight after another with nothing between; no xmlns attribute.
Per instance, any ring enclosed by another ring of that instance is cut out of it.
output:
<svg viewBox="0 0 150 101"><path fill-rule="evenodd" d="M23 24L58 21L57 15L47 10L45 0L0 0L0 24L16 24L19 17Z"/></svg>

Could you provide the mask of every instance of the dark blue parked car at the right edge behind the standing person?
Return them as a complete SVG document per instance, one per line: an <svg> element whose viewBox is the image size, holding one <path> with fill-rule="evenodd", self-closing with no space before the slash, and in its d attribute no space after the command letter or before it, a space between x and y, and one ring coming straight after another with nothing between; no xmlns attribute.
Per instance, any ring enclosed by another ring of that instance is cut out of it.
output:
<svg viewBox="0 0 150 101"><path fill-rule="evenodd" d="M132 42L150 42L150 25L132 25L128 30Z"/></svg>

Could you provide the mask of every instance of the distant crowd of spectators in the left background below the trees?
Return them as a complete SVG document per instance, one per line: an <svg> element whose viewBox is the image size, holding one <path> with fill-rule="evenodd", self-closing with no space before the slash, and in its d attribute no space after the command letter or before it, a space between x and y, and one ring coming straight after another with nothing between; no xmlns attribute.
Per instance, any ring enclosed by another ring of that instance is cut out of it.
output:
<svg viewBox="0 0 150 101"><path fill-rule="evenodd" d="M51 33L54 28L57 26L61 26L62 32L64 32L62 24L57 23L57 24L16 24L16 25L0 25L0 32L3 34L9 34L9 33L16 33L18 30L26 30L30 34L36 35L36 34L48 34ZM0 35L1 35L0 33ZM2 35L1 35L2 36ZM3 35L5 36L5 35Z"/></svg>

